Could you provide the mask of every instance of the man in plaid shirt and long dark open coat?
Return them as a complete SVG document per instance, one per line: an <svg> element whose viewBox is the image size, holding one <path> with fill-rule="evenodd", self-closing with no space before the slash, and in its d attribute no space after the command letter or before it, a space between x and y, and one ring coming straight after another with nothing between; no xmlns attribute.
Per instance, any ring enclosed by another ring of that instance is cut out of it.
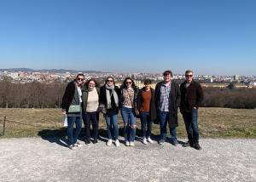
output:
<svg viewBox="0 0 256 182"><path fill-rule="evenodd" d="M155 105L157 117L160 121L160 141L162 145L166 141L166 126L169 124L171 143L177 145L176 128L177 107L180 104L180 90L176 82L172 82L172 71L163 73L164 81L157 83L155 87Z"/></svg>

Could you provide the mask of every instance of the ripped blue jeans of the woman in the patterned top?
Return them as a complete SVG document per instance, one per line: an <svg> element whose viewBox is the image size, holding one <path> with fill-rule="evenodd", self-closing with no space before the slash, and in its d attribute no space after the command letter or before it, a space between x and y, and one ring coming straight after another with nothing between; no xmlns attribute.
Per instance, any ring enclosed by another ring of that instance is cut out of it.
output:
<svg viewBox="0 0 256 182"><path fill-rule="evenodd" d="M136 136L136 114L134 108L122 107L121 115L124 122L125 141L134 141Z"/></svg>

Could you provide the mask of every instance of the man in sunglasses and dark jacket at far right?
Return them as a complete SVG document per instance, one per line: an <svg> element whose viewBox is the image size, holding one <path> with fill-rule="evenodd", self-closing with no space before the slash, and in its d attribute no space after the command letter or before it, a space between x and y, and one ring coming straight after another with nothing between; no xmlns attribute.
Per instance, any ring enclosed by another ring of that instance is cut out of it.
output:
<svg viewBox="0 0 256 182"><path fill-rule="evenodd" d="M201 150L199 145L198 132L198 107L203 100L203 92L201 85L193 79L193 71L185 72L186 81L180 85L181 105L180 111L183 114L189 142L185 146L195 147L196 150Z"/></svg>

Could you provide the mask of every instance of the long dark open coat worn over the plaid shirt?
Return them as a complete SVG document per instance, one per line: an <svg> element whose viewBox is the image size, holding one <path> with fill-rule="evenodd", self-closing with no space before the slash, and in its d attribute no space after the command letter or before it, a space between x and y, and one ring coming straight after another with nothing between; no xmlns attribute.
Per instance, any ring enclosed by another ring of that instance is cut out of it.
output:
<svg viewBox="0 0 256 182"><path fill-rule="evenodd" d="M163 82L159 82L156 84L154 97L155 97L155 106L156 110L158 111L158 106L160 103L160 88ZM169 95L169 126L170 127L177 127L177 108L180 105L181 95L178 84L172 81L171 84L171 92ZM159 119L159 118L158 118Z"/></svg>

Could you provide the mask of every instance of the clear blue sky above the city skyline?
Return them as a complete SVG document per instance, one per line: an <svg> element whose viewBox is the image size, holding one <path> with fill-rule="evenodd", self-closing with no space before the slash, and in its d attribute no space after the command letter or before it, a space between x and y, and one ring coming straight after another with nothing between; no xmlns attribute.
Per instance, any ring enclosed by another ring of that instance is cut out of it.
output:
<svg viewBox="0 0 256 182"><path fill-rule="evenodd" d="M1 0L0 67L256 75L256 1Z"/></svg>

